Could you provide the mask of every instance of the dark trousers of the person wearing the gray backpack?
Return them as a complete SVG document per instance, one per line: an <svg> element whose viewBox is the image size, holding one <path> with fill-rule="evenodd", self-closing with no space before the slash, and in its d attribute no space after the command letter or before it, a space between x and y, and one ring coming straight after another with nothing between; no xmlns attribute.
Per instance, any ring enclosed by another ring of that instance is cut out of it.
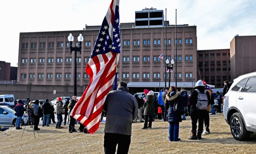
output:
<svg viewBox="0 0 256 154"><path fill-rule="evenodd" d="M192 130L197 130L197 121L198 121L198 130L203 132L203 113L201 111L192 112L190 114Z"/></svg>

